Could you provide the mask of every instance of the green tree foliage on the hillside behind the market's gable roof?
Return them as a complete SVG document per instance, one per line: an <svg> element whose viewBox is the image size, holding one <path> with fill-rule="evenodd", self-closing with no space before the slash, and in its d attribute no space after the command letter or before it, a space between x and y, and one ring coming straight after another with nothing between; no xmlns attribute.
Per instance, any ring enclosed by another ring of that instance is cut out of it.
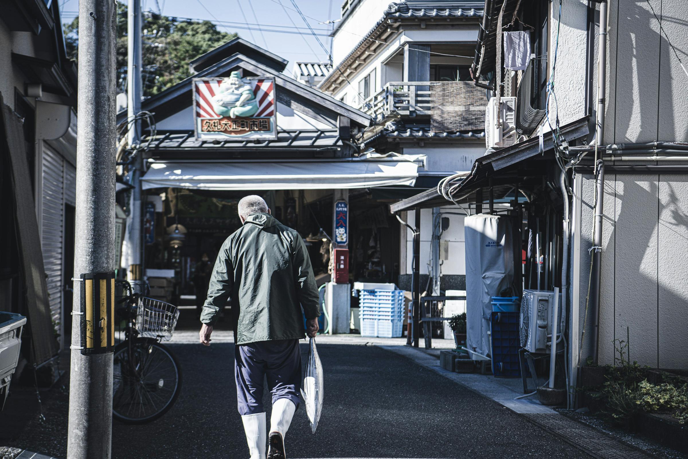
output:
<svg viewBox="0 0 688 459"><path fill-rule="evenodd" d="M237 34L217 30L211 21L180 21L175 17L144 12L142 18L143 95L153 96L191 76L189 61L234 39ZM76 61L78 17L65 24L67 56ZM127 87L127 6L117 6L118 88Z"/></svg>

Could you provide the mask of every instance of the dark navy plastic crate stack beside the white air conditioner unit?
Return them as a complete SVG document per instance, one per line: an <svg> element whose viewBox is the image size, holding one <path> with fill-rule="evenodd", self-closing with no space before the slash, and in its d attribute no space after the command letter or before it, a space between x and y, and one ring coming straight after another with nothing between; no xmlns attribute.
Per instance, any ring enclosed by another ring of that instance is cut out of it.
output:
<svg viewBox="0 0 688 459"><path fill-rule="evenodd" d="M490 317L492 339L492 372L497 378L519 378L518 312L493 312Z"/></svg>

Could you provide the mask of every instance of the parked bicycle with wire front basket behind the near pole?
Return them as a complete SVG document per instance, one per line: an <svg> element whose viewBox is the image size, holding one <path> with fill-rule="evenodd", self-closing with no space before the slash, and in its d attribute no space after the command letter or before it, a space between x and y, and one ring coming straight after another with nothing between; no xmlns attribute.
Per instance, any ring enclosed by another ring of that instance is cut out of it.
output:
<svg viewBox="0 0 688 459"><path fill-rule="evenodd" d="M116 312L124 319L125 339L115 346L112 416L126 424L149 423L174 405L182 388L182 371L169 341L179 310L164 301L134 292L116 281Z"/></svg>

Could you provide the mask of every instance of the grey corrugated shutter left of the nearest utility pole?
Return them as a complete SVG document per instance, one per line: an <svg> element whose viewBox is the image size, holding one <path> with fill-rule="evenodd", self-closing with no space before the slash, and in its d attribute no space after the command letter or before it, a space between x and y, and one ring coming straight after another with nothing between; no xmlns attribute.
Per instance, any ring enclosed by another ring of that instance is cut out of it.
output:
<svg viewBox="0 0 688 459"><path fill-rule="evenodd" d="M41 248L43 248L43 264L47 274L46 281L50 314L56 322L61 322L62 312L64 179L64 160L44 145Z"/></svg>

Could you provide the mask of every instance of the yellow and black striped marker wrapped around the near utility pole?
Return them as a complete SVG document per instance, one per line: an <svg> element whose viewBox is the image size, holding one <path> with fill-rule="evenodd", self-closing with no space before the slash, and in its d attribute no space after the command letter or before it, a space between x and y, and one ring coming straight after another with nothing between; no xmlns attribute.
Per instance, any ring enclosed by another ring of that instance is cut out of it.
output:
<svg viewBox="0 0 688 459"><path fill-rule="evenodd" d="M115 272L81 275L81 354L115 348Z"/></svg>

